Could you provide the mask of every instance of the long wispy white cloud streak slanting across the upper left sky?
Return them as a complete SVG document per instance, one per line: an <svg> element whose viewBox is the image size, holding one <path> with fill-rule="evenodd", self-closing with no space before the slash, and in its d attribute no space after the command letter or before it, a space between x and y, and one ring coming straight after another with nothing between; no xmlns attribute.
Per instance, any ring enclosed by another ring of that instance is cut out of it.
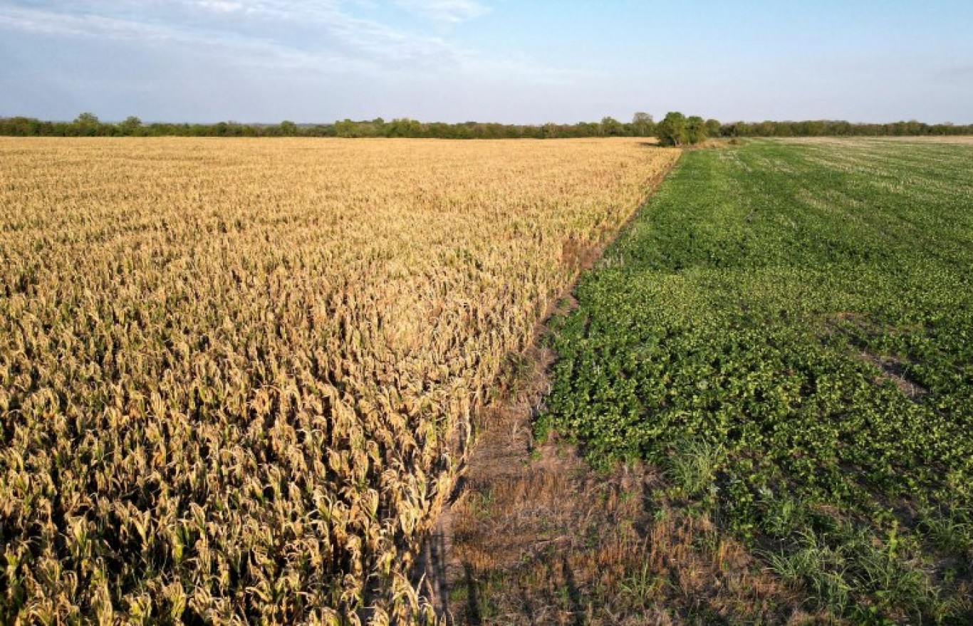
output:
<svg viewBox="0 0 973 626"><path fill-rule="evenodd" d="M180 42L235 51L240 63L252 59L263 65L272 59L306 69L422 71L455 66L460 56L438 37L353 17L338 0L18 4L0 1L0 27L145 45Z"/></svg>

